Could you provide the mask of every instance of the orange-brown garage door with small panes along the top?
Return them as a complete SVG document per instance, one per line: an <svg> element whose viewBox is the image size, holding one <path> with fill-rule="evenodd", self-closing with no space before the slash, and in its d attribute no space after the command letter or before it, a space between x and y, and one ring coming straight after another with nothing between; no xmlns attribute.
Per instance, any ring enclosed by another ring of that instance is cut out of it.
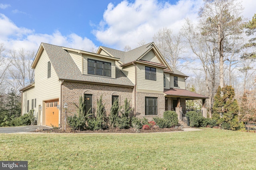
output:
<svg viewBox="0 0 256 170"><path fill-rule="evenodd" d="M46 102L45 125L59 127L59 109L58 101Z"/></svg>

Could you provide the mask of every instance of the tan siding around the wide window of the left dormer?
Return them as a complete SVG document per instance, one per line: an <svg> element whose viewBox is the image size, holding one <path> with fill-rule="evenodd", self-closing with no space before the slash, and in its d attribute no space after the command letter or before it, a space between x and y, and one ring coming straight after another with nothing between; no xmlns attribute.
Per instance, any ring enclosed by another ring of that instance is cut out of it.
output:
<svg viewBox="0 0 256 170"><path fill-rule="evenodd" d="M91 55L85 55L85 54L83 55L84 74L87 74L88 59L105 61L105 62L111 63L111 77L116 78L116 64L115 64L114 60L106 59L106 58L102 58L102 57L91 56Z"/></svg>

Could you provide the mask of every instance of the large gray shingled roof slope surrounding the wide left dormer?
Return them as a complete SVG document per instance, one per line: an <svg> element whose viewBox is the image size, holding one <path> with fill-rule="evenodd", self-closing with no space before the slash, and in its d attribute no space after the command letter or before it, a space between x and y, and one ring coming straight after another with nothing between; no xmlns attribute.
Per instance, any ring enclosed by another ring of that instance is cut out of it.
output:
<svg viewBox="0 0 256 170"><path fill-rule="evenodd" d="M62 47L42 43L52 66L60 80L73 80L81 82L92 82L100 84L115 84L120 86L134 86L134 84L116 67L116 78L92 76L81 74L79 68L68 52Z"/></svg>

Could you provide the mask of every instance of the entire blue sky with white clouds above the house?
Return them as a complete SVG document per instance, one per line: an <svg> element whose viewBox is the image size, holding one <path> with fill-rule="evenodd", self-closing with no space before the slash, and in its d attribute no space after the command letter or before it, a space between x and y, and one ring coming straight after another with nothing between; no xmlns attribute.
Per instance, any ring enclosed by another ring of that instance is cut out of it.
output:
<svg viewBox="0 0 256 170"><path fill-rule="evenodd" d="M245 1L245 0L244 0ZM177 32L197 21L202 0L0 0L0 43L37 51L41 42L92 51L152 41L162 27ZM242 2L254 15L255 0Z"/></svg>

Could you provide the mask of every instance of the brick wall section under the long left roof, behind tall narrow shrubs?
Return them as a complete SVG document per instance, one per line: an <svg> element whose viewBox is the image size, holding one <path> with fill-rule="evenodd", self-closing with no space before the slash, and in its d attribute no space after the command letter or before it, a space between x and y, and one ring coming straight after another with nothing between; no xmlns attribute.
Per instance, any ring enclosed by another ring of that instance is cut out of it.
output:
<svg viewBox="0 0 256 170"><path fill-rule="evenodd" d="M110 114L112 106L112 95L119 96L120 106L124 105L124 100L130 100L131 107L134 107L134 98L132 98L133 88L106 86L100 84L87 84L79 82L64 82L62 85L62 104L68 104L67 116L77 114L79 97L84 94L92 94L92 113L96 114L97 99L102 95L103 104L105 104L106 115ZM64 125L64 109L62 113L62 125Z"/></svg>

